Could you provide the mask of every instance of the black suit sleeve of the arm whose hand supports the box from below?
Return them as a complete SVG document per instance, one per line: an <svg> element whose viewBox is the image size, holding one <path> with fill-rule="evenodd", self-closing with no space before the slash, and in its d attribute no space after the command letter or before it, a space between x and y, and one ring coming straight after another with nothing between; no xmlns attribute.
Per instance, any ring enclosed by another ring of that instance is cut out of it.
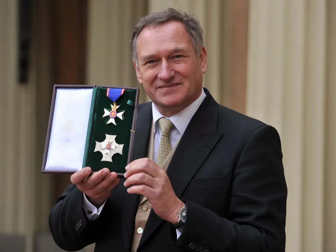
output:
<svg viewBox="0 0 336 252"><path fill-rule="evenodd" d="M58 198L49 214L52 237L61 249L78 251L97 241L101 230L101 217L89 221L83 209L83 194L70 185Z"/></svg>

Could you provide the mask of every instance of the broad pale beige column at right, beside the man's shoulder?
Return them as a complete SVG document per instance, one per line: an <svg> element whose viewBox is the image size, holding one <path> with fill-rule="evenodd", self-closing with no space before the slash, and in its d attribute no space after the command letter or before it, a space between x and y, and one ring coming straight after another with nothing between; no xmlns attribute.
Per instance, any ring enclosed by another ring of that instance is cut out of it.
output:
<svg viewBox="0 0 336 252"><path fill-rule="evenodd" d="M286 251L322 252L323 238L334 236L324 233L326 122L336 126L325 117L325 93L333 91L325 76L332 72L325 63L331 50L327 1L250 4L246 111L280 133L288 185ZM328 106L336 114L331 101Z"/></svg>

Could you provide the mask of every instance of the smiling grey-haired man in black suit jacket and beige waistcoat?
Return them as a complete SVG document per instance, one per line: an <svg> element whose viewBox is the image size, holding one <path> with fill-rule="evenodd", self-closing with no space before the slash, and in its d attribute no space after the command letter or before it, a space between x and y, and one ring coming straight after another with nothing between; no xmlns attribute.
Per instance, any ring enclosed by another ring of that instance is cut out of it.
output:
<svg viewBox="0 0 336 252"><path fill-rule="evenodd" d="M202 87L202 29L166 9L131 41L140 84L132 162L123 179L91 168L50 213L56 244L76 251L285 251L287 187L277 131L218 105Z"/></svg>

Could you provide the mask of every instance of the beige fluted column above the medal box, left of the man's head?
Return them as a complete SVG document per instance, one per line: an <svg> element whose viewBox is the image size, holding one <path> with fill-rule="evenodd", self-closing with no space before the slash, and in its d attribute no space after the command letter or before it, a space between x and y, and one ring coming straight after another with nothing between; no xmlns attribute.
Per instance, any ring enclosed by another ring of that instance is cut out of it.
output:
<svg viewBox="0 0 336 252"><path fill-rule="evenodd" d="M89 1L87 84L140 87L140 103L148 100L129 43L134 22L146 13L145 0Z"/></svg>

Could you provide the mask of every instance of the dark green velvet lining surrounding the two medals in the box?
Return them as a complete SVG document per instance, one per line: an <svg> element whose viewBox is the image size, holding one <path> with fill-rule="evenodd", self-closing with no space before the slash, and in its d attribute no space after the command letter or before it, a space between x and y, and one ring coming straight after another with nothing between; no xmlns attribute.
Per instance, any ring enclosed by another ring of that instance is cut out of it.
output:
<svg viewBox="0 0 336 252"><path fill-rule="evenodd" d="M92 171L99 171L103 168L108 168L111 172L124 173L125 166L127 165L131 137L130 130L132 127L134 112L134 106L132 107L128 105L127 102L130 100L135 103L136 90L126 89L124 94L116 101L116 105L120 105L117 112L125 111L123 114L123 120L118 117L115 118L117 125L114 125L113 123L106 124L110 117L102 117L104 114L104 108L111 111L111 104L113 105L113 102L106 96L106 91L107 88L98 87L87 166L91 167ZM114 154L112 162L101 161L102 153L99 151L94 152L96 141L104 141L106 138L105 134L117 135L115 139L117 144L124 144L123 154Z"/></svg>

